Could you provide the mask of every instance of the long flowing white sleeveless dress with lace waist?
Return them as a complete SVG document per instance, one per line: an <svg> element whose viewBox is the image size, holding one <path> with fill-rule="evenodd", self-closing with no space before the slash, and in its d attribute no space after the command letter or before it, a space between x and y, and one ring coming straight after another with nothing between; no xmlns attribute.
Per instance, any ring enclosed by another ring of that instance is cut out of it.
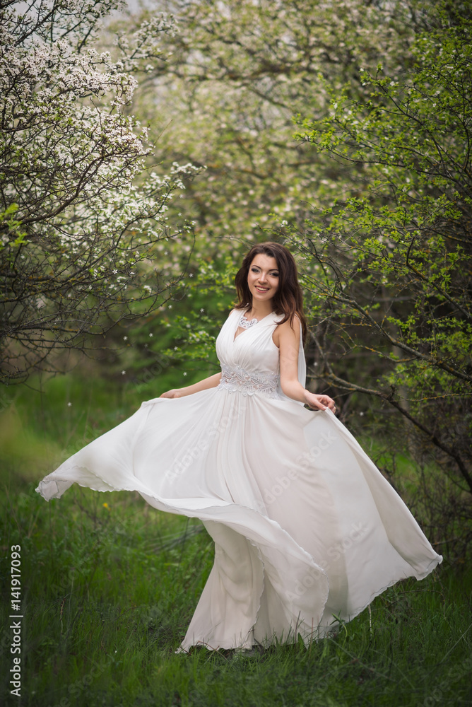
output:
<svg viewBox="0 0 472 707"><path fill-rule="evenodd" d="M309 643L442 561L336 416L281 392L272 340L281 317L235 337L240 315L216 341L218 387L143 402L36 489L46 500L74 482L138 491L154 508L201 518L215 561L179 650L299 634ZM305 386L301 343L298 368Z"/></svg>

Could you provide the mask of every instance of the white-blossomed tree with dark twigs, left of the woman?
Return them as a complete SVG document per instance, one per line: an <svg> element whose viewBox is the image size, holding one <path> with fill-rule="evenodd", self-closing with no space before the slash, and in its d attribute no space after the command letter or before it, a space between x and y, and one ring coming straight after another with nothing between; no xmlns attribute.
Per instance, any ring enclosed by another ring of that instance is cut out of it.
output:
<svg viewBox="0 0 472 707"><path fill-rule="evenodd" d="M158 176L129 115L146 62L165 62L163 14L114 52L94 47L119 0L4 2L0 11L1 380L53 370L123 318L153 310L179 273L155 262L190 165ZM112 55L113 54L113 55ZM191 230L183 226L183 230Z"/></svg>

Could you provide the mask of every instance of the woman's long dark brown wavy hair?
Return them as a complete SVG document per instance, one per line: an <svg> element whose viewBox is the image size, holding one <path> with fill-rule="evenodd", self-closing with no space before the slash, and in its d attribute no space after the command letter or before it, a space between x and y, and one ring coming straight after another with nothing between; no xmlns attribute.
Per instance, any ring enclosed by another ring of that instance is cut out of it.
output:
<svg viewBox="0 0 472 707"><path fill-rule="evenodd" d="M257 243L244 255L242 266L235 276L238 297L235 309L244 309L244 307L252 306L252 294L247 284L247 275L254 257L261 254L275 258L277 262L278 288L273 296L273 310L278 315L284 315L283 320L279 323L283 324L283 322L290 320L290 326L293 328L293 319L295 314L298 315L302 323L302 341L305 344L307 320L305 320L305 315L303 314L303 296L302 288L298 282L297 264L290 250L285 248L284 245L271 241Z"/></svg>

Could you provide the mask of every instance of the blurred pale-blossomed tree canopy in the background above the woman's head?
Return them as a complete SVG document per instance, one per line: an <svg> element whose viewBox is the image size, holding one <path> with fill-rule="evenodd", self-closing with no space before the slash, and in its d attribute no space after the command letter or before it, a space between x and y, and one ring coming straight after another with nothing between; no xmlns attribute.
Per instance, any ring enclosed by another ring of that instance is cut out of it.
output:
<svg viewBox="0 0 472 707"><path fill-rule="evenodd" d="M317 200L315 184L338 192L336 162L293 139L292 116L324 115L329 94L319 76L336 90L354 78L358 93L358 66L408 65L425 5L348 0L333 21L330 2L241 0L223 8L160 0L179 31L162 37L165 62L146 66L133 109L149 124L164 163L205 168L169 211L195 222L194 263L221 251L239 259L259 228L273 223L271 214L302 221ZM134 33L153 14L151 8L117 25ZM112 45L111 36L104 45Z"/></svg>

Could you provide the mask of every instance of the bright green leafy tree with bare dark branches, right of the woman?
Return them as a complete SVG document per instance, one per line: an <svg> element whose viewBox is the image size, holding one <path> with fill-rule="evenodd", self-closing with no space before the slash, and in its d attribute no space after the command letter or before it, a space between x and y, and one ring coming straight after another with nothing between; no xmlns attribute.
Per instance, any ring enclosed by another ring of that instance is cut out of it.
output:
<svg viewBox="0 0 472 707"><path fill-rule="evenodd" d="M326 83L329 115L299 117L299 139L345 165L350 184L285 232L311 261L318 375L396 407L423 432L419 456L432 442L472 491L472 23L447 4L430 19L411 69L361 69L364 99ZM349 370L335 352L372 363Z"/></svg>

